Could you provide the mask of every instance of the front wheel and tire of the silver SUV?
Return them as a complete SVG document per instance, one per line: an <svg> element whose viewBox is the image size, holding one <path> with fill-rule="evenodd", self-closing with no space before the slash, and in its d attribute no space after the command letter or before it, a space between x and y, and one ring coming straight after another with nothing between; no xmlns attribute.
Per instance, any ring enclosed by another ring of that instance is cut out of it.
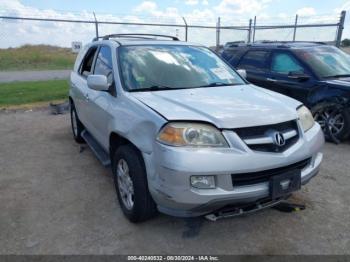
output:
<svg viewBox="0 0 350 262"><path fill-rule="evenodd" d="M157 214L147 183L142 155L132 145L122 145L114 153L113 178L124 215L133 223L146 221Z"/></svg>

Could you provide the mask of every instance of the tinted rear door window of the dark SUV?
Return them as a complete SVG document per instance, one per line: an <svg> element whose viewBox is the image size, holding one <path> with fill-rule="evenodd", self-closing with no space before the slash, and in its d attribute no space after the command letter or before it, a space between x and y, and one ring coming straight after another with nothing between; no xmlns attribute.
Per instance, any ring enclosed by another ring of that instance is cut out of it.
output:
<svg viewBox="0 0 350 262"><path fill-rule="evenodd" d="M248 51L241 59L238 68L254 71L264 71L269 52L252 50Z"/></svg>

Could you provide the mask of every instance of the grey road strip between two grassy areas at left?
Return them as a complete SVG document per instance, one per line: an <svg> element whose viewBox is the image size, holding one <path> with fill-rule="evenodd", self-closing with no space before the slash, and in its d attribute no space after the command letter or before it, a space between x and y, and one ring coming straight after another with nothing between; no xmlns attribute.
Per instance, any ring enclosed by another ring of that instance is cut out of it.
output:
<svg viewBox="0 0 350 262"><path fill-rule="evenodd" d="M2 71L0 72L0 83L68 79L70 72L71 70Z"/></svg>

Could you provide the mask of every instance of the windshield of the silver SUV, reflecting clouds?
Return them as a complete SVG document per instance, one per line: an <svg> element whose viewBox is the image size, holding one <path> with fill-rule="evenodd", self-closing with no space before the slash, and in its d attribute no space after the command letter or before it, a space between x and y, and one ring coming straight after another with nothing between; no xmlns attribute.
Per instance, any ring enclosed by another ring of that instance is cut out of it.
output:
<svg viewBox="0 0 350 262"><path fill-rule="evenodd" d="M245 82L209 49L197 46L122 46L119 64L129 91L182 89Z"/></svg>

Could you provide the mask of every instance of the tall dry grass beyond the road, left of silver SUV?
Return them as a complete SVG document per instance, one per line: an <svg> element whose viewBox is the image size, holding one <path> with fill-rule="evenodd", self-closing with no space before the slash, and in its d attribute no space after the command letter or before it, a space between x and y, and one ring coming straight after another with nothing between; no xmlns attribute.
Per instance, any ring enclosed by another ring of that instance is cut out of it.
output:
<svg viewBox="0 0 350 262"><path fill-rule="evenodd" d="M69 48L49 45L0 49L0 71L71 69L75 58Z"/></svg>

